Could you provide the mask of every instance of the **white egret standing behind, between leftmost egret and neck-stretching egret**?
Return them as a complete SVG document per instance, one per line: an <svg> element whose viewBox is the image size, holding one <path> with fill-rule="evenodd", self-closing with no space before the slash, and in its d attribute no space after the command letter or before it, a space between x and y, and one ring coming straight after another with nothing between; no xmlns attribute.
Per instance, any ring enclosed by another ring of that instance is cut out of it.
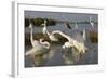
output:
<svg viewBox="0 0 108 79"><path fill-rule="evenodd" d="M51 41L58 41L58 39L53 34L50 34L48 31L48 29L46 29L46 21L44 21L44 23L42 25L44 26L43 27L43 34L48 35Z"/></svg>

